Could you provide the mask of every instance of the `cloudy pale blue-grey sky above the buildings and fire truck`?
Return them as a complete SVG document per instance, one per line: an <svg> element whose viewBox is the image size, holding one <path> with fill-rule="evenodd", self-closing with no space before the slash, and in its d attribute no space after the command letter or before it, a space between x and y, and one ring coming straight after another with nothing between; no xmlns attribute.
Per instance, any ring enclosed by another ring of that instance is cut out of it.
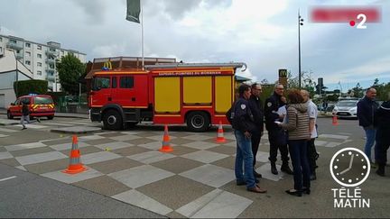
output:
<svg viewBox="0 0 390 219"><path fill-rule="evenodd" d="M302 71L343 91L390 81L390 1L142 0L145 57L184 62L246 62L242 76L274 82L277 70L298 72L300 8ZM381 23L311 23L320 5L378 5ZM141 56L141 25L125 20L125 0L2 0L0 34L79 50L87 59Z"/></svg>

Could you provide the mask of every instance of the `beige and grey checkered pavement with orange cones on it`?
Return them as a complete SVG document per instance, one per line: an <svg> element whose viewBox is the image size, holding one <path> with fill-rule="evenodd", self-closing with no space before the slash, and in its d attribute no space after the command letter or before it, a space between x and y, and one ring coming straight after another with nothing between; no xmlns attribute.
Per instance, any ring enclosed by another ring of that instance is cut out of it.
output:
<svg viewBox="0 0 390 219"><path fill-rule="evenodd" d="M29 124L29 128L47 130L80 123L45 121ZM23 132L19 125L6 127L0 128L1 138L10 132ZM237 217L245 215L249 206L264 196L235 185L236 141L231 131L225 132L228 141L224 144L216 143L217 132L169 133L171 153L158 151L163 130L80 135L81 161L88 170L75 175L60 172L69 165L68 135L5 145L0 147L0 162L170 217ZM331 148L348 141L348 135L320 134L316 142L319 147ZM290 185L291 176L270 173L268 145L265 133L256 156L262 181L289 178Z"/></svg>

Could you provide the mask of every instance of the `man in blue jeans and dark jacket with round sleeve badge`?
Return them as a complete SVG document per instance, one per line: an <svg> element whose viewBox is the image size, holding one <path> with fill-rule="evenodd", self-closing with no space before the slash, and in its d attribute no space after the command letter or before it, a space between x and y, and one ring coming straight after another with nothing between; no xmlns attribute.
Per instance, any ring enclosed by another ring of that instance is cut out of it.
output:
<svg viewBox="0 0 390 219"><path fill-rule="evenodd" d="M255 123L253 114L247 102L251 96L251 88L246 84L242 84L240 87L238 87L238 93L239 98L234 105L234 115L232 116L232 126L237 141L235 164L237 185L246 185L246 189L251 192L265 193L265 189L256 185L253 169L251 135L255 130Z"/></svg>

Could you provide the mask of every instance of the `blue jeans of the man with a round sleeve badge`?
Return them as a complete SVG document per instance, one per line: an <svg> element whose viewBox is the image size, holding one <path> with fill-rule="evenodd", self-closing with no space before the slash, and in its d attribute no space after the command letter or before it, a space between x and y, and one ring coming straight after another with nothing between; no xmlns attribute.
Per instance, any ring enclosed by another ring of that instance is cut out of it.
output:
<svg viewBox="0 0 390 219"><path fill-rule="evenodd" d="M255 187L255 175L253 168L252 142L250 138L246 138L243 132L235 130L237 141L236 165L235 174L236 180L245 181L246 188ZM243 173L244 163L244 173Z"/></svg>

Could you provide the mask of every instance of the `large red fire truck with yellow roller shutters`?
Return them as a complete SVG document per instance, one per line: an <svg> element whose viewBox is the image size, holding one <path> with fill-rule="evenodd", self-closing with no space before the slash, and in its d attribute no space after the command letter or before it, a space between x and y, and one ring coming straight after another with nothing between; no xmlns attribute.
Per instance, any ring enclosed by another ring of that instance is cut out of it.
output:
<svg viewBox="0 0 390 219"><path fill-rule="evenodd" d="M227 124L235 98L235 73L245 63L146 65L94 73L88 106L91 121L120 130L142 121L187 123L192 132Z"/></svg>

